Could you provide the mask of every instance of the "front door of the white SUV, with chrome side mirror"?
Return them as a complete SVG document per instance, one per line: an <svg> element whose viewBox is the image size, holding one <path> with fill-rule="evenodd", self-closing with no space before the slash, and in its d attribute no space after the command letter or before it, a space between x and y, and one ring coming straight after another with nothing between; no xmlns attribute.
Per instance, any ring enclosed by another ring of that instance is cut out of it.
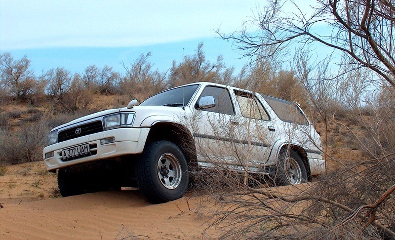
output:
<svg viewBox="0 0 395 240"><path fill-rule="evenodd" d="M226 87L207 85L194 106L193 134L197 160L202 166L230 164L234 160L232 139L237 123L230 91Z"/></svg>

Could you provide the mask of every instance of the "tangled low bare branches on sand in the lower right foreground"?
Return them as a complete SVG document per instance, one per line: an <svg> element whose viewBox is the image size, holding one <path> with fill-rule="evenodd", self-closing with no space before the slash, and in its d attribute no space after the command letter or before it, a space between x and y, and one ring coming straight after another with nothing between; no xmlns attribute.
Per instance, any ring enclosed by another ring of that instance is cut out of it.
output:
<svg viewBox="0 0 395 240"><path fill-rule="evenodd" d="M385 199L394 189L394 160L354 163L297 186L273 187L270 178L221 166L197 178L219 203L212 227L221 239L394 238L395 202Z"/></svg>

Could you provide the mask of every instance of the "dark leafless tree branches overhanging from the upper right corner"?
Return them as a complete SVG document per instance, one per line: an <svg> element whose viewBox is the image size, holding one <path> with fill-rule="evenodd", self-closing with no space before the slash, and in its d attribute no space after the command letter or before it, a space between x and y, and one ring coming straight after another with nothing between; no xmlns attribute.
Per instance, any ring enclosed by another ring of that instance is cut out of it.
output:
<svg viewBox="0 0 395 240"><path fill-rule="evenodd" d="M316 5L310 6L311 14L306 13L306 6L302 8L294 1L269 2L251 19L257 31L245 28L231 35L220 34L221 37L235 40L246 55L261 58L273 53L267 48L319 43L344 53L344 64L369 69L395 86L394 2L317 0ZM287 12L284 6L291 6L287 9L296 12Z"/></svg>

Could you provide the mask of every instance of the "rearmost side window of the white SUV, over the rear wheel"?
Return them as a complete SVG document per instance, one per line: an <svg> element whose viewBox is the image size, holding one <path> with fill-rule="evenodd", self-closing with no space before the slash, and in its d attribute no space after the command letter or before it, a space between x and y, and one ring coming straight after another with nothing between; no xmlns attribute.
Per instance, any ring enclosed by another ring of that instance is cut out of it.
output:
<svg viewBox="0 0 395 240"><path fill-rule="evenodd" d="M301 125L309 124L306 116L300 111L296 103L264 94L261 94L261 96L268 102L280 120Z"/></svg>

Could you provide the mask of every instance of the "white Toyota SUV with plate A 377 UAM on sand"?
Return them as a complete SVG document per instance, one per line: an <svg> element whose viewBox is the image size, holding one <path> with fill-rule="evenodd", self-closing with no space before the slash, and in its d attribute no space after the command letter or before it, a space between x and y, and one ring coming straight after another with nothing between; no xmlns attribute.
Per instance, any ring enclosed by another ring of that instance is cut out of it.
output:
<svg viewBox="0 0 395 240"><path fill-rule="evenodd" d="M297 103L197 82L137 104L52 129L43 158L58 169L63 197L137 185L151 202L175 200L193 167L275 174L283 184L325 170L319 135Z"/></svg>

